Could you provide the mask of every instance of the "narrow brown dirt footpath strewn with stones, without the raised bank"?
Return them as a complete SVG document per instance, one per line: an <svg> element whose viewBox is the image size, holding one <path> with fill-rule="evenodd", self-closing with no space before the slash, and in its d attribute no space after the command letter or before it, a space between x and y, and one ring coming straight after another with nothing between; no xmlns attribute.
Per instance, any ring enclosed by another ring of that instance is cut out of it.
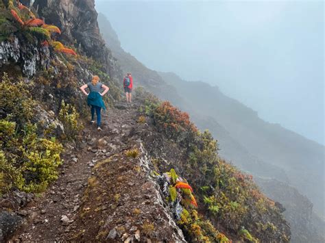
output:
<svg viewBox="0 0 325 243"><path fill-rule="evenodd" d="M80 207L80 199L92 175L94 164L113 151L128 146L122 142L123 130L136 124L136 105L119 103L118 109L110 109L103 114L103 131L97 131L95 125L85 125L84 142L79 149L66 153L64 164L60 168L60 177L49 186L38 199L24 210L27 222L16 235L17 242L41 241L53 242L67 240L67 235L75 214ZM97 150L99 138L106 138L108 148Z"/></svg>

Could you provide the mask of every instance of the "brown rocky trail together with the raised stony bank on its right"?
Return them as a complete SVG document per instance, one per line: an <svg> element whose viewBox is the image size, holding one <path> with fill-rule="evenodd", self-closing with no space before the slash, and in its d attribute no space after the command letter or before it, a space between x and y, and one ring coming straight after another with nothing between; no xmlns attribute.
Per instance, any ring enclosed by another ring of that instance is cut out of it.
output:
<svg viewBox="0 0 325 243"><path fill-rule="evenodd" d="M21 209L14 242L185 241L152 176L142 139L152 140L153 130L137 122L138 110L118 103L104 113L103 131L85 125L59 179Z"/></svg>

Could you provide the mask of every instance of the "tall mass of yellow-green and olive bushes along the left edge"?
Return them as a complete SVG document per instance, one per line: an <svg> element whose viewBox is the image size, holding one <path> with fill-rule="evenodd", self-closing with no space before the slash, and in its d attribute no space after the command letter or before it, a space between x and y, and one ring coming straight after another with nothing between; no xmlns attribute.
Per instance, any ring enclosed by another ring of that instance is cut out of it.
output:
<svg viewBox="0 0 325 243"><path fill-rule="evenodd" d="M23 81L3 75L0 83L0 192L13 189L41 192L58 177L62 145L40 138L34 120L36 106ZM42 126L39 126L42 127Z"/></svg>

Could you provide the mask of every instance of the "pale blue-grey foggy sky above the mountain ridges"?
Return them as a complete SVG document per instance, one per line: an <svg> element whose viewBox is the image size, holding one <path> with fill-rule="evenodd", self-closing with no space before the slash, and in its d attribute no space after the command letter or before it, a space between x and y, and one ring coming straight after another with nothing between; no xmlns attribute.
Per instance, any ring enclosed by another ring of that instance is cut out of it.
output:
<svg viewBox="0 0 325 243"><path fill-rule="evenodd" d="M324 144L323 1L96 0L149 68L217 85Z"/></svg>

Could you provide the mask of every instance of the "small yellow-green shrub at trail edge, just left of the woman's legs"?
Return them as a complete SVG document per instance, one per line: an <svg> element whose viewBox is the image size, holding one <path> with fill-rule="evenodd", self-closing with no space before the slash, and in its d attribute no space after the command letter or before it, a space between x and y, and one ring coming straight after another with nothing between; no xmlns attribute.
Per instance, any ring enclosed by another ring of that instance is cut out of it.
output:
<svg viewBox="0 0 325 243"><path fill-rule="evenodd" d="M78 122L79 114L75 107L64 103L62 100L61 109L59 112L59 120L64 127L63 140L73 140L75 136L82 130L82 125Z"/></svg>

